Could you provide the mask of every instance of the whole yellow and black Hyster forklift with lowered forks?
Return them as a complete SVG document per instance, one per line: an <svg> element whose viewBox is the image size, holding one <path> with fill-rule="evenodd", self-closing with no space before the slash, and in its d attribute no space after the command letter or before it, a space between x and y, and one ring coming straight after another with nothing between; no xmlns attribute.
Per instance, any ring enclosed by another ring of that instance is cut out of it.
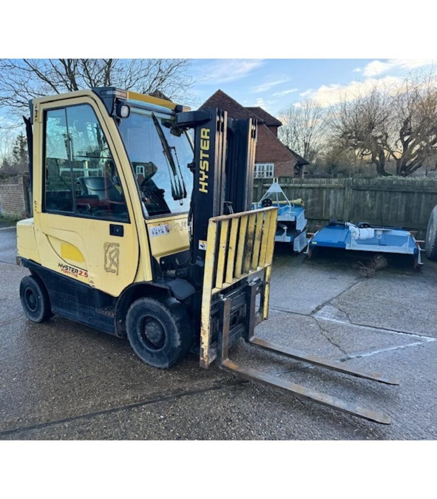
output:
<svg viewBox="0 0 437 499"><path fill-rule="evenodd" d="M254 336L267 319L277 209L251 210L254 120L191 111L118 88L32 99L24 118L33 218L17 224L24 312L127 336L145 363L187 352L379 423L388 415L238 365L250 345L341 373L397 384Z"/></svg>

